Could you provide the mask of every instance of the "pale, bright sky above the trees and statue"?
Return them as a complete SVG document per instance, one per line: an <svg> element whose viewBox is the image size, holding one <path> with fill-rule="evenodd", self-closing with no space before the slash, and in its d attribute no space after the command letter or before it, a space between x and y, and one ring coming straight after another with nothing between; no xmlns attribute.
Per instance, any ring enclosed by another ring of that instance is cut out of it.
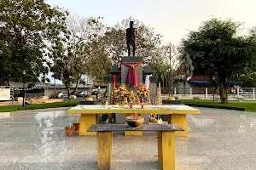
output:
<svg viewBox="0 0 256 170"><path fill-rule="evenodd" d="M66 8L84 17L101 16L113 26L129 16L154 28L162 35L163 44L178 44L196 30L201 21L212 16L245 22L247 28L256 26L255 0L46 0L51 5Z"/></svg>

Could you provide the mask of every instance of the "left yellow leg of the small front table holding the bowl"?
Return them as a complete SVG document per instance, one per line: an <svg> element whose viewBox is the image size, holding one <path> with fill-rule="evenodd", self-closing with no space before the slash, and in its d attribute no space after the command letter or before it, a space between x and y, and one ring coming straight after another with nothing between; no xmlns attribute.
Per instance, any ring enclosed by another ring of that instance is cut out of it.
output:
<svg viewBox="0 0 256 170"><path fill-rule="evenodd" d="M112 161L112 132L98 132L98 169L109 170Z"/></svg>

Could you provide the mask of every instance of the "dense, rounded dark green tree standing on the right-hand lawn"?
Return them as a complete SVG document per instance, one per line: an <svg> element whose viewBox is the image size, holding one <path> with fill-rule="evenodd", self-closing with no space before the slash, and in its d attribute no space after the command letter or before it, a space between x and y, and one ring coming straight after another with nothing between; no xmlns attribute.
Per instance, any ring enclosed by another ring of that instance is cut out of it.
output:
<svg viewBox="0 0 256 170"><path fill-rule="evenodd" d="M208 75L218 82L221 103L228 103L230 80L245 72L255 56L252 37L239 37L241 24L232 20L212 19L198 31L190 31L182 41L184 53L195 66L195 75Z"/></svg>

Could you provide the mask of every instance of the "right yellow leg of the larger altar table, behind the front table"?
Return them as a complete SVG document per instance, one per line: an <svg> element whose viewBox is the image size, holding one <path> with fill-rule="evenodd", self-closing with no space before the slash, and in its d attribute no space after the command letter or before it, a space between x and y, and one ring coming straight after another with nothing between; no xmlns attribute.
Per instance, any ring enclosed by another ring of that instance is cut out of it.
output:
<svg viewBox="0 0 256 170"><path fill-rule="evenodd" d="M182 127L184 131L175 132L176 136L188 136L188 123L185 114L172 114L170 115L169 124L177 124Z"/></svg>

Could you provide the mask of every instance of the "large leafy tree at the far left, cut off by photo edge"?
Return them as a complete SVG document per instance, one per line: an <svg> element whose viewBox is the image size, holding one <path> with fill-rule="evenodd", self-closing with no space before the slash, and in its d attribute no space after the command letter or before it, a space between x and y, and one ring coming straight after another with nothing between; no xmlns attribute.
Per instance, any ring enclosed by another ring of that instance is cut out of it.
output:
<svg viewBox="0 0 256 170"><path fill-rule="evenodd" d="M44 54L47 43L58 39L67 11L50 7L44 0L0 1L0 85L35 82L40 73L47 73Z"/></svg>

